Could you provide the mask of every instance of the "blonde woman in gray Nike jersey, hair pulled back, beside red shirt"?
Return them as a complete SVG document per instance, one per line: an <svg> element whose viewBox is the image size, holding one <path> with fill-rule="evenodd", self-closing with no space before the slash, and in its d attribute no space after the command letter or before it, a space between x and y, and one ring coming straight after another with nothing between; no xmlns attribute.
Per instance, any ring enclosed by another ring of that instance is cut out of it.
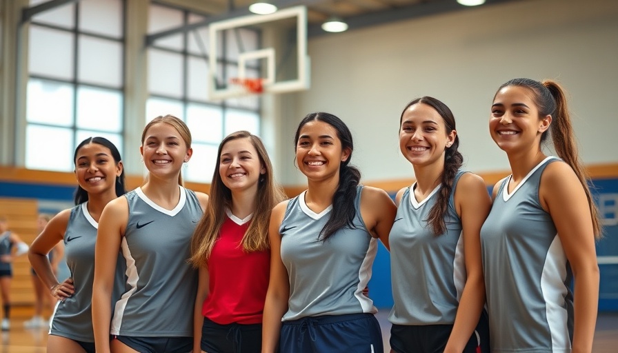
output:
<svg viewBox="0 0 618 353"><path fill-rule="evenodd" d="M94 341L99 353L186 353L193 345L191 304L197 292L190 243L208 195L182 186L181 168L193 150L181 119L152 119L142 132L140 152L146 183L108 203L101 214L94 256ZM126 291L112 315L107 305L111 260L119 250L127 265Z"/></svg>

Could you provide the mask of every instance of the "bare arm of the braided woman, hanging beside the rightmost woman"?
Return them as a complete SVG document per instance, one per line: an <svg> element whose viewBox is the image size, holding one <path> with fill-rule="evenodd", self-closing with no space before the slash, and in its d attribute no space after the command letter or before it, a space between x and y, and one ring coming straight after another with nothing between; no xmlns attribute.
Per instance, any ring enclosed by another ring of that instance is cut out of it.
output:
<svg viewBox="0 0 618 353"><path fill-rule="evenodd" d="M455 189L455 207L463 231L463 256L466 284L463 286L455 325L446 343L445 353L463 352L474 332L485 305L485 282L481 263L481 226L491 209L491 199L481 177L466 173Z"/></svg>

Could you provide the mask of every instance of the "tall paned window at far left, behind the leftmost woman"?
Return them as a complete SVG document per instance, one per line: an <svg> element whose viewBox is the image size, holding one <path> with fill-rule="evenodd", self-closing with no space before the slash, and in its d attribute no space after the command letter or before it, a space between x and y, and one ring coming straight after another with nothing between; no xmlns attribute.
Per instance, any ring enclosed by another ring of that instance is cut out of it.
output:
<svg viewBox="0 0 618 353"><path fill-rule="evenodd" d="M123 151L124 12L124 0L88 0L32 18L26 168L70 171L75 146L92 136Z"/></svg>

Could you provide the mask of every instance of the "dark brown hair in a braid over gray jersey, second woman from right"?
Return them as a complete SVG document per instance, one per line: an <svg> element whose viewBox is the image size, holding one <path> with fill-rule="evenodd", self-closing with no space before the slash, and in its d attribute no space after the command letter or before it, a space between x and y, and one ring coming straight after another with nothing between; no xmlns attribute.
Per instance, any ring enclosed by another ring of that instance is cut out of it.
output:
<svg viewBox="0 0 618 353"><path fill-rule="evenodd" d="M406 113L406 110L415 104L425 104L429 105L433 108L442 120L444 121L444 126L446 128L446 134L450 134L452 130L455 129L455 117L453 117L452 112L446 106L446 104L442 103L438 99L433 97L421 97L410 101L406 108L403 108L401 112L401 117L399 118L399 129L401 129L401 123L403 123L403 114ZM455 135L455 140L452 142L450 147L444 150L444 170L440 175L440 184L441 188L438 192L438 199L431 208L428 219L426 221L431 225L433 232L436 236L440 234L444 234L446 232L446 223L444 223L444 215L448 211L448 199L450 197L450 193L452 192L452 184L455 181L455 175L457 175L457 171L461 168L461 164L463 164L463 156L457 150L459 148L459 136Z"/></svg>

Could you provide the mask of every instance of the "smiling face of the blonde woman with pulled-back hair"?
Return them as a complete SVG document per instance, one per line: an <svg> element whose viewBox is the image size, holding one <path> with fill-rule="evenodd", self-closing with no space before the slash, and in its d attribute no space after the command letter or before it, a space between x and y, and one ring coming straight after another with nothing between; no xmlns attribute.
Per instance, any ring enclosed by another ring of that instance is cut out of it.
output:
<svg viewBox="0 0 618 353"><path fill-rule="evenodd" d="M155 123L144 133L139 148L148 171L161 177L177 178L182 164L191 158L181 134L168 123Z"/></svg>

